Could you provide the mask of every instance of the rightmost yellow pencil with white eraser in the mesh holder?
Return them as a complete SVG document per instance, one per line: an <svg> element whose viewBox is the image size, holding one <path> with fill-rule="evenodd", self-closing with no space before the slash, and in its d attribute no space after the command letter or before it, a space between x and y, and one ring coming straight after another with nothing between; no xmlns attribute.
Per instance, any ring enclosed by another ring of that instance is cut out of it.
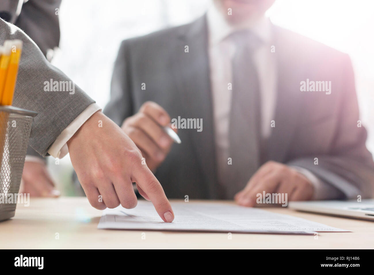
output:
<svg viewBox="0 0 374 275"><path fill-rule="evenodd" d="M1 98L1 105L12 105L14 88L17 81L19 59L21 58L22 52L22 41L12 40L12 52L10 54L10 60L8 70L6 73L6 80L4 85L4 92Z"/></svg>

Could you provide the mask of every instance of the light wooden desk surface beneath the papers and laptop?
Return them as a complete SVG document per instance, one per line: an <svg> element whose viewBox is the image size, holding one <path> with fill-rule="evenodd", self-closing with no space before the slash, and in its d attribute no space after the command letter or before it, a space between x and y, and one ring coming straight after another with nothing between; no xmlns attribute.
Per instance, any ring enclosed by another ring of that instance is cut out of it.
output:
<svg viewBox="0 0 374 275"><path fill-rule="evenodd" d="M229 203L229 202L228 202ZM85 197L30 198L17 205L16 216L0 222L0 249L18 248L374 248L374 222L301 213L285 208L268 211L289 214L352 232L309 235L159 232L97 229L101 211ZM142 239L142 233L145 239ZM59 239L56 239L56 233Z"/></svg>

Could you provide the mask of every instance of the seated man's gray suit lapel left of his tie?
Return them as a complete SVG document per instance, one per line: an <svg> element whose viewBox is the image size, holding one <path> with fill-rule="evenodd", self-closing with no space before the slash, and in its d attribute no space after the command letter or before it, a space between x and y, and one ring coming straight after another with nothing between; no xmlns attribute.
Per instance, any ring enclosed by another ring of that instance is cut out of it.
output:
<svg viewBox="0 0 374 275"><path fill-rule="evenodd" d="M181 118L202 119L201 132L197 132L197 129L180 131L188 131L193 146L191 150L195 152L197 165L208 187L209 198L217 198L207 32L205 15L181 28L174 52L170 56L170 68L183 106ZM188 52L185 52L186 46Z"/></svg>

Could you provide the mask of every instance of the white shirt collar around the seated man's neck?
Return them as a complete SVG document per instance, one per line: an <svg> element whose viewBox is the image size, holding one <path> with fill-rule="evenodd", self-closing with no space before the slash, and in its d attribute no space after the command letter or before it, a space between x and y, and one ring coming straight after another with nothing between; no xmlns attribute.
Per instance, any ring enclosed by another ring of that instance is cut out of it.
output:
<svg viewBox="0 0 374 275"><path fill-rule="evenodd" d="M220 43L229 34L238 30L251 30L263 42L267 43L271 40L271 22L266 16L261 17L257 21L248 20L239 25L230 25L212 4L207 12L209 42L211 45Z"/></svg>

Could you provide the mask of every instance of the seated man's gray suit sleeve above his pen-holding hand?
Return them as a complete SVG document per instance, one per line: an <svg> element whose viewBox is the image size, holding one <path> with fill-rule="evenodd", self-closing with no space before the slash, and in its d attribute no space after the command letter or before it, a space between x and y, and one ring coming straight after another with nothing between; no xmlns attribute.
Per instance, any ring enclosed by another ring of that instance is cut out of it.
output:
<svg viewBox="0 0 374 275"><path fill-rule="evenodd" d="M126 117L133 114L131 95L131 65L128 45L126 41L121 43L110 88L110 100L104 108L104 114L121 126Z"/></svg>

